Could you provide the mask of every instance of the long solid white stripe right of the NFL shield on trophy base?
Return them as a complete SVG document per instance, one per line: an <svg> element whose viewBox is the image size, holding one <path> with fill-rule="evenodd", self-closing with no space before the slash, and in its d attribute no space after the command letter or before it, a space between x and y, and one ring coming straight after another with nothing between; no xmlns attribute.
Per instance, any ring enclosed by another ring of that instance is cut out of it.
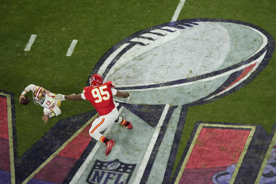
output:
<svg viewBox="0 0 276 184"><path fill-rule="evenodd" d="M150 140L150 144L147 147L147 151L146 151L146 153L144 155L144 158L143 158L143 160L141 162L141 165L139 166L139 169L137 171L137 174L135 176L133 184L140 183L140 181L142 179L143 173L144 173L145 168L147 166L147 163L148 163L148 161L150 159L150 155L152 154L152 150L154 148L155 142L156 142L157 137L159 135L160 129L161 129L162 124L164 123L165 117L166 117L166 115L168 113L169 107L170 107L170 105L166 104L166 106L165 106L165 108L164 108L164 110L163 110L163 112L161 114L159 122L158 122L158 124L157 124L157 126L155 128L155 131L154 131L153 135L152 135L152 139Z"/></svg>

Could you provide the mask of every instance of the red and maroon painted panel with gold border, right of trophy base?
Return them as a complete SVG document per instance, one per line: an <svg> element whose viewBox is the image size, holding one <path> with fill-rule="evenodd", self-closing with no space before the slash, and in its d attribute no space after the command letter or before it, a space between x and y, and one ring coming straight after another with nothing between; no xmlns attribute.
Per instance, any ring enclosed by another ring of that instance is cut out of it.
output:
<svg viewBox="0 0 276 184"><path fill-rule="evenodd" d="M202 128L179 183L213 183L212 176L237 164L250 130Z"/></svg>

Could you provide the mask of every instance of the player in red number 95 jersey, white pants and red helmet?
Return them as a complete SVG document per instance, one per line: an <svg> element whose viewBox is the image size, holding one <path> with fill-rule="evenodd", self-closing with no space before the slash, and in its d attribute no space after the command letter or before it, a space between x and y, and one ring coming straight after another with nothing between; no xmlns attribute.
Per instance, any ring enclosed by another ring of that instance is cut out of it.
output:
<svg viewBox="0 0 276 184"><path fill-rule="evenodd" d="M107 129L114 122L122 124L128 129L132 129L130 122L119 116L117 104L113 101L113 96L120 98L129 97L130 93L114 89L115 85L108 81L103 83L103 78L99 74L93 74L90 78L90 86L83 88L83 93L78 95L57 94L58 99L66 100L89 100L99 113L89 130L89 135L94 139L106 143L106 156L110 154L115 141L104 137L100 132Z"/></svg>

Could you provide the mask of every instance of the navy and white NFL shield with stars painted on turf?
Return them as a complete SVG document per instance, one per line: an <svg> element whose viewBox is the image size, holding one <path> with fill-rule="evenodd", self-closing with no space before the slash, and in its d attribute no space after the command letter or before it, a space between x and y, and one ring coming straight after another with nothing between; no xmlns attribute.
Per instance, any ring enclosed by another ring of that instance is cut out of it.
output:
<svg viewBox="0 0 276 184"><path fill-rule="evenodd" d="M96 160L87 183L91 184L127 184L136 164L125 164L118 159L110 162Z"/></svg>

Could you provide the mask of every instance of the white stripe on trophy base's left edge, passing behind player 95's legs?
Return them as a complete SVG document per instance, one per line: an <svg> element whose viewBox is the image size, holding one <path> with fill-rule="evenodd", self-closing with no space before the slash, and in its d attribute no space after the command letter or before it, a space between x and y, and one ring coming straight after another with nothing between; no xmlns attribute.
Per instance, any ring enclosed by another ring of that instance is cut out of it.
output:
<svg viewBox="0 0 276 184"><path fill-rule="evenodd" d="M124 109L124 107L121 107L119 110L119 114L121 114L122 110ZM112 126L108 127L105 131L104 131L104 136L107 136L108 133L111 131ZM80 179L81 175L84 173L84 171L86 170L87 166L89 165L90 161L92 160L92 158L94 157L94 155L96 154L97 150L99 149L100 145L102 143L100 141L98 141L96 143L96 145L93 147L92 151L90 152L90 154L87 156L87 158L85 159L85 161L83 162L83 164L81 165L81 167L78 169L78 171L76 172L75 176L73 177L73 179L70 181L69 184L76 184L78 183L78 180Z"/></svg>

